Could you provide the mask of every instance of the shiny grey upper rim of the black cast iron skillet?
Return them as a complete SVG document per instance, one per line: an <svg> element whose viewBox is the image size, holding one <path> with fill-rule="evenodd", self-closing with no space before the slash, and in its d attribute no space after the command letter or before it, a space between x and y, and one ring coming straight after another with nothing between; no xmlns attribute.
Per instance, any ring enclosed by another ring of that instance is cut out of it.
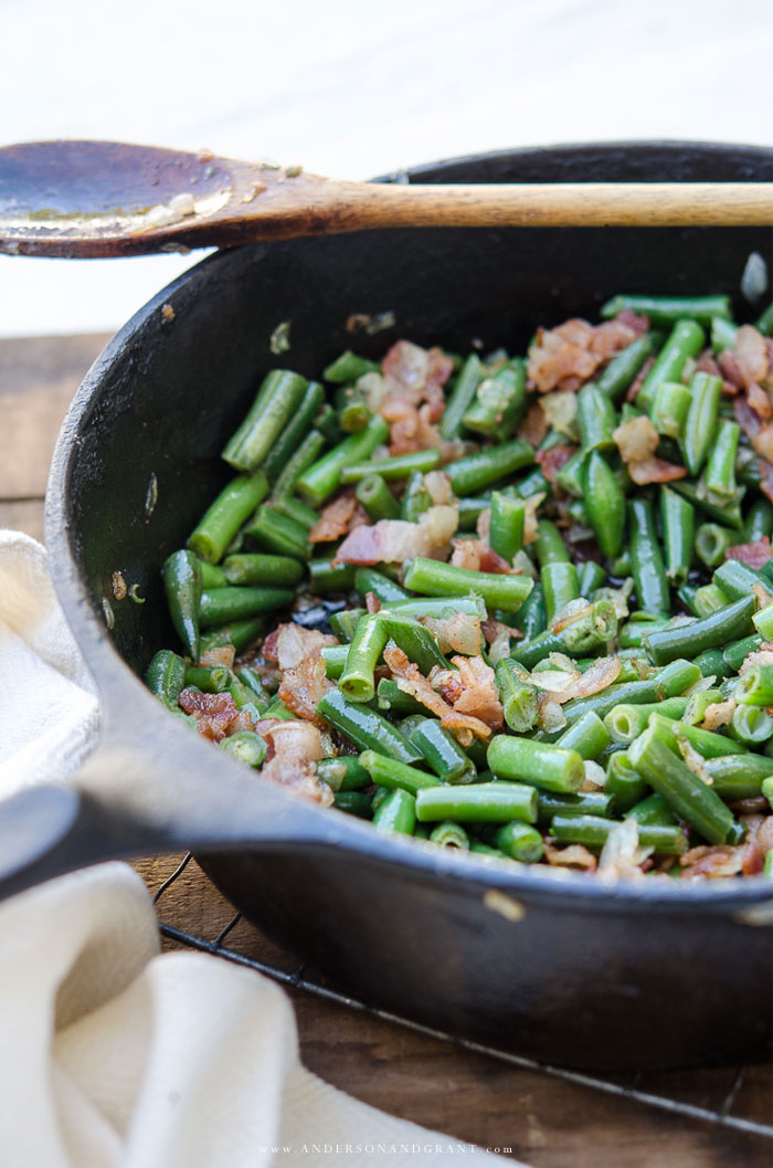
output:
<svg viewBox="0 0 773 1168"><path fill-rule="evenodd" d="M399 181L403 175L420 179L423 175L439 168L447 168L457 165L479 165L486 161L514 158L534 158L535 155L570 155L583 152L596 151L607 153L625 150L634 154L646 154L648 151L660 150L677 153L690 148L709 150L722 158L727 151L744 151L759 154L773 161L773 147L760 145L745 145L739 142L713 142L699 140L680 139L648 139L648 140L610 140L589 142L564 142L550 146L524 146L511 150L488 151L482 154L460 155L451 159L441 159L436 162L420 164L405 171L392 172L388 175L374 179L375 182ZM270 244L245 244L248 248L270 246ZM93 675L99 694L103 712L107 714L107 723L117 719L114 715L114 698L110 696L110 683L116 682L116 688L130 696L133 701L139 698L140 711L144 724L152 731L162 730L162 737L170 736L182 743L186 742L188 749L194 748L189 729L177 724L168 717L158 701L152 697L140 679L127 666L124 658L114 648L109 631L93 606L90 592L78 568L76 549L68 520L68 503L70 488L70 471L77 456L77 436L84 422L91 413L92 405L98 401L103 389L103 381L112 364L120 360L127 348L133 342L141 339L144 329L156 317L161 306L167 303L181 287L195 283L204 270L213 265L228 264L229 253L241 250L241 248L221 249L213 255L194 264L170 284L161 288L142 307L140 307L125 325L107 342L105 348L97 356L81 383L72 398L54 450L51 466L46 491L46 523L44 536L48 548L50 572L54 588L64 610L68 624L74 633L78 647L83 652L86 666ZM176 736L180 736L176 738ZM183 738L186 736L186 738ZM204 742L197 742L196 746L207 755L202 755L202 760L208 760L211 769L211 746ZM96 748L98 749L98 746ZM235 766L228 758L221 758L218 765ZM295 798L272 788L276 794L287 806L298 806ZM329 846L332 840L335 846L344 847L355 853L361 853L377 862L390 865L403 867L408 864L413 869L415 876L433 878L438 875L450 876L469 885L487 884L502 891L513 891L534 895L546 895L556 891L573 899L585 899L594 909L604 911L617 911L620 908L662 909L676 910L702 909L704 911L727 912L738 911L743 917L744 910L748 910L757 902L762 902L758 911L765 917L760 924L773 924L773 885L762 876L748 876L743 880L703 881L695 883L682 883L676 881L642 881L627 882L618 881L613 884L604 880L591 878L574 872L566 872L562 869L531 867L517 864L510 861L509 864L492 863L485 857L475 854L464 854L462 856L444 856L437 854L429 844L420 840L392 840L375 833L370 825L360 822L354 816L343 812L335 812L335 808L322 808L313 804L305 806L305 812L313 819L319 820L318 836L309 842ZM337 830L330 832L330 812L334 812L334 820L337 820ZM326 827L328 830L326 830ZM298 839L302 839L299 833ZM287 840L283 836L283 842ZM292 840L292 837L291 837ZM417 846L418 844L418 846ZM281 844L278 844L281 846ZM201 849L200 849L201 850ZM500 870L501 869L501 870ZM769 917L769 919L768 919ZM755 923L755 922L748 922Z"/></svg>

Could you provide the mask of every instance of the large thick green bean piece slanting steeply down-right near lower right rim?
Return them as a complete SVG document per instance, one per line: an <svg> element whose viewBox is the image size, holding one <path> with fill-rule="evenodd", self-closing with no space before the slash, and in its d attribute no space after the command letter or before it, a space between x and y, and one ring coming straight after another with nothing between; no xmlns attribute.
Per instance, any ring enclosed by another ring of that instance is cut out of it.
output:
<svg viewBox="0 0 773 1168"><path fill-rule="evenodd" d="M734 820L711 787L692 773L659 738L650 725L628 748L628 757L639 773L661 794L677 819L690 823L709 843L724 843Z"/></svg>

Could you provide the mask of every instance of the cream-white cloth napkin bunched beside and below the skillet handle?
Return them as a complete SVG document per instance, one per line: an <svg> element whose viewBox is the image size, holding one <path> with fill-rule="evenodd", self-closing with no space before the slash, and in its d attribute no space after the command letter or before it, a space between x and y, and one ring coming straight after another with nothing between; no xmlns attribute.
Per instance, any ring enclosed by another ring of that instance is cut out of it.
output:
<svg viewBox="0 0 773 1168"><path fill-rule="evenodd" d="M97 701L46 551L19 531L0 531L0 797L65 779L96 738ZM514 1163L385 1115L305 1070L284 992L217 958L159 955L148 892L127 865L76 872L0 905L1 1164L460 1161Z"/></svg>

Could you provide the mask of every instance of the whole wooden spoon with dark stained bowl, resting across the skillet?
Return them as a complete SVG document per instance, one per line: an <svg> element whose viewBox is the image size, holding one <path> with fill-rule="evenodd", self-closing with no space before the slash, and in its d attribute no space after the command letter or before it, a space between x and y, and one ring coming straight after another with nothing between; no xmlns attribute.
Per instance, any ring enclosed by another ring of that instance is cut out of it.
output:
<svg viewBox="0 0 773 1168"><path fill-rule="evenodd" d="M346 182L104 141L0 150L0 251L91 258L384 227L773 225L773 183Z"/></svg>

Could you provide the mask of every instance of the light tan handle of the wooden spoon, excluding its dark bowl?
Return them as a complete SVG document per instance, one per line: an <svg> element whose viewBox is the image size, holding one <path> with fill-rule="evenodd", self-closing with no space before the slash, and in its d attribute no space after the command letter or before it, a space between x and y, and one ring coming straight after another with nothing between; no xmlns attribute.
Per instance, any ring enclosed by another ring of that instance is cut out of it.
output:
<svg viewBox="0 0 773 1168"><path fill-rule="evenodd" d="M326 185L340 230L377 227L764 227L773 183Z"/></svg>

